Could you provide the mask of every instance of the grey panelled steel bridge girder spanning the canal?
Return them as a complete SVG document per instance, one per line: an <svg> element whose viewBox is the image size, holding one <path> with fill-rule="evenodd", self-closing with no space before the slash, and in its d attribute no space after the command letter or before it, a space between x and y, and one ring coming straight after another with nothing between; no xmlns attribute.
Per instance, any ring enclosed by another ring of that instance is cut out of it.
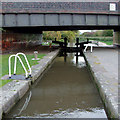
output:
<svg viewBox="0 0 120 120"><path fill-rule="evenodd" d="M0 22L1 23L1 22ZM2 14L1 27L23 31L119 29L120 15L116 14ZM30 30L30 28L32 28Z"/></svg>

